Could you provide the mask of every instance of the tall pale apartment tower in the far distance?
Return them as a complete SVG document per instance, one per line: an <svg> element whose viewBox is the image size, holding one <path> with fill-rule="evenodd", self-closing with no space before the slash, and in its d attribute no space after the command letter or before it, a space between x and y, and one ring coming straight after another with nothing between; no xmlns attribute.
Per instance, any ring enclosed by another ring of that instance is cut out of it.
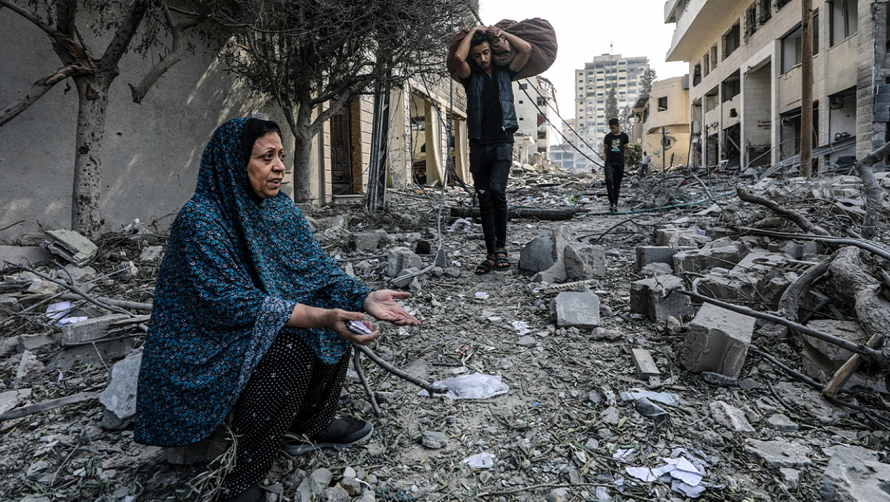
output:
<svg viewBox="0 0 890 502"><path fill-rule="evenodd" d="M621 54L596 56L584 69L575 70L575 130L578 136L597 150L609 133L606 97L612 88L619 112L633 107L640 78L649 68L649 58L623 58ZM582 143L583 144L583 143Z"/></svg>

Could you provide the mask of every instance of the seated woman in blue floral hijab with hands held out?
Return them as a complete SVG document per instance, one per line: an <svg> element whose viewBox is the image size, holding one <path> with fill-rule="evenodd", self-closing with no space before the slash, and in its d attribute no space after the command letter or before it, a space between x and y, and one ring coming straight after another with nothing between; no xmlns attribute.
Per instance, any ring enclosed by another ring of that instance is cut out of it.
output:
<svg viewBox="0 0 890 502"><path fill-rule="evenodd" d="M292 454L368 439L370 423L333 419L351 343L379 333L347 322L367 312L420 324L395 302L407 293L372 292L325 254L279 192L283 157L274 122L236 118L216 129L170 232L142 355L135 441L191 444L234 411L226 500L264 499L258 483L286 433L306 440L291 442Z"/></svg>

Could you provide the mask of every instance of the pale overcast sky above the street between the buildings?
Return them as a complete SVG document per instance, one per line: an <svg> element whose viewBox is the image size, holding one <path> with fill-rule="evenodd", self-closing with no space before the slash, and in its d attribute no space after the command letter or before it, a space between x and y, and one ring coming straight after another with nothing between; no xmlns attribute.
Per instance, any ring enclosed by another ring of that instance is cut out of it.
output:
<svg viewBox="0 0 890 502"><path fill-rule="evenodd" d="M486 25L499 20L543 18L556 30L559 53L543 76L554 83L563 118L575 116L576 69L594 61L594 56L612 53L627 57L646 56L659 80L689 73L684 62L665 62L673 24L664 22L664 0L480 0L480 15ZM558 121L555 115L550 119ZM552 141L554 142L554 141Z"/></svg>

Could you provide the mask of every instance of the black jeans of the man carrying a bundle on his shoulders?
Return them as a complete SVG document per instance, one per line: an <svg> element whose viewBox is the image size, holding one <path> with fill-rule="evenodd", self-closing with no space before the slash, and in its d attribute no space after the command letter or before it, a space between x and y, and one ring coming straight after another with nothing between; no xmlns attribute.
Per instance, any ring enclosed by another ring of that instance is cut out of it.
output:
<svg viewBox="0 0 890 502"><path fill-rule="evenodd" d="M512 143L470 148L470 172L479 197L485 247L490 255L496 248L506 247L506 180L512 164Z"/></svg>

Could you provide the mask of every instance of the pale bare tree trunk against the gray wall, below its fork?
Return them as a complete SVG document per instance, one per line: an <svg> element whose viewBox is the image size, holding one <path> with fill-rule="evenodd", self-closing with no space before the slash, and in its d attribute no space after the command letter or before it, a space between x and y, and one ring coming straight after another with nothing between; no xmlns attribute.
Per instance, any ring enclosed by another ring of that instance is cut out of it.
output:
<svg viewBox="0 0 890 502"><path fill-rule="evenodd" d="M112 77L75 77L77 85L77 150L71 194L71 229L88 238L98 236L101 217L101 142Z"/></svg>

